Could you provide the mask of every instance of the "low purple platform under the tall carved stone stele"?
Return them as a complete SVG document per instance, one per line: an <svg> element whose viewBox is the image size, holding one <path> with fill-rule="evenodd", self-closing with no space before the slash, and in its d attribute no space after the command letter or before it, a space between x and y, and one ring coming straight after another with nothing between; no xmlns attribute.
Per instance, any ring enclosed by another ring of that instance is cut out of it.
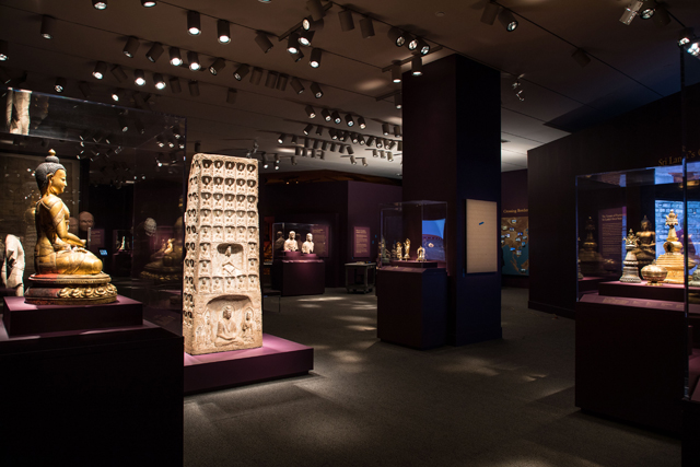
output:
<svg viewBox="0 0 700 467"><path fill-rule="evenodd" d="M313 369L312 347L262 334L262 347L257 349L185 353L185 394L296 376Z"/></svg>

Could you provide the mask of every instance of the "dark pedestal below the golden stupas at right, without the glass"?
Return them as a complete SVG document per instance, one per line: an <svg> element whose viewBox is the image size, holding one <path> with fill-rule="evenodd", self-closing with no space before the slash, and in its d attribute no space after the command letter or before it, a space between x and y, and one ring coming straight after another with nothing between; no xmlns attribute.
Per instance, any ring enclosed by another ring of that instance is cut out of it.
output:
<svg viewBox="0 0 700 467"><path fill-rule="evenodd" d="M698 316L698 305L690 305ZM576 406L680 433L688 348L684 304L606 297L576 303Z"/></svg>

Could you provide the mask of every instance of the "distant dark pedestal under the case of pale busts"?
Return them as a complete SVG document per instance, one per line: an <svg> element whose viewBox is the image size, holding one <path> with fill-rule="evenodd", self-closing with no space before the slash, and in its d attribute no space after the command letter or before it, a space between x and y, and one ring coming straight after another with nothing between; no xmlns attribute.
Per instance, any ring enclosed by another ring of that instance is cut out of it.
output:
<svg viewBox="0 0 700 467"><path fill-rule="evenodd" d="M296 252L291 252L296 253ZM326 291L326 265L323 259L275 259L272 261L272 289L282 296L323 295Z"/></svg>

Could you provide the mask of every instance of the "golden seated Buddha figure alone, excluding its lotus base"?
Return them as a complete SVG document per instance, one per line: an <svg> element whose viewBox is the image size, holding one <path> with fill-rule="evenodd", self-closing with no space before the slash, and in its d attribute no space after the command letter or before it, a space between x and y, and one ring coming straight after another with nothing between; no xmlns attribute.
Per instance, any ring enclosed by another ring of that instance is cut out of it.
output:
<svg viewBox="0 0 700 467"><path fill-rule="evenodd" d="M35 171L42 198L36 205L37 241L34 268L37 275L98 275L102 260L88 252L85 241L68 232L70 211L58 197L67 187L66 167L49 151Z"/></svg>

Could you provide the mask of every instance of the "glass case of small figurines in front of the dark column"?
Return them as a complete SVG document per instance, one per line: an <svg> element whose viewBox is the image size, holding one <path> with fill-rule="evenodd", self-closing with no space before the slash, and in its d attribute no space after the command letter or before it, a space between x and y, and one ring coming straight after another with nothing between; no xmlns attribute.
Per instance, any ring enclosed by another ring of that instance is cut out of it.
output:
<svg viewBox="0 0 700 467"><path fill-rule="evenodd" d="M400 266L400 261L438 264L445 267L445 222L447 203L407 201L382 206L382 235L378 261ZM420 266L420 265L419 265Z"/></svg>

